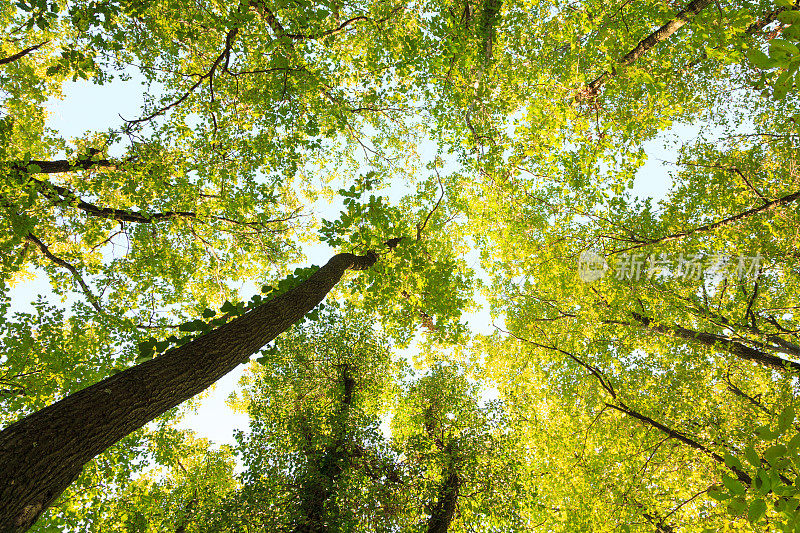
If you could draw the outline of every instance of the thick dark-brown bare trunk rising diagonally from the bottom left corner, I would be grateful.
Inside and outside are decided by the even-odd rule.
[[[129,433],[202,392],[317,306],[377,255],[338,254],[300,286],[196,340],[71,394],[0,432],[0,533],[26,531]]]

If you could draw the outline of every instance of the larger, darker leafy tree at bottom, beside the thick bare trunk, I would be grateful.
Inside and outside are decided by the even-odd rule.
[[[378,429],[396,374],[384,343],[363,314],[331,311],[252,367],[236,402],[252,420],[242,488],[214,527],[353,531],[383,515],[391,530],[402,474]]]

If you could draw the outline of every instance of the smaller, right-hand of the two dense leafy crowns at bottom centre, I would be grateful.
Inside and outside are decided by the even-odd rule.
[[[433,367],[398,398],[392,439],[413,472],[405,489],[412,517],[424,508],[430,524],[426,515],[455,486],[451,531],[478,523],[513,531],[529,523],[538,484],[530,456],[511,432],[503,405],[481,403],[477,386],[452,366]]]

